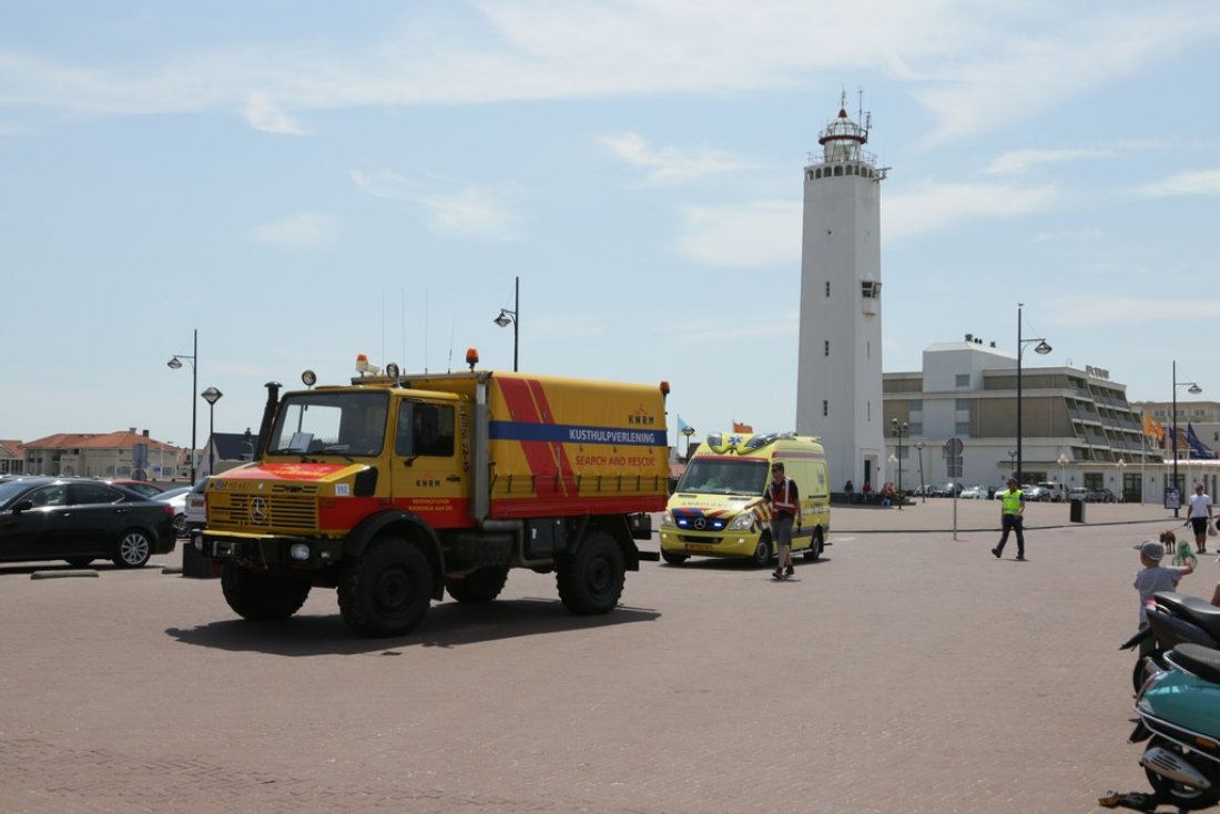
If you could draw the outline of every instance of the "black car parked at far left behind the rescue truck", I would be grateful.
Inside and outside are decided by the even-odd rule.
[[[0,482],[0,560],[111,559],[142,567],[173,550],[173,508],[121,486],[84,478]]]

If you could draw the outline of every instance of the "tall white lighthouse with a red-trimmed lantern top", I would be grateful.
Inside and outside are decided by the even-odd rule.
[[[869,118],[844,106],[805,167],[797,432],[820,436],[833,491],[887,480],[881,399],[881,181]]]

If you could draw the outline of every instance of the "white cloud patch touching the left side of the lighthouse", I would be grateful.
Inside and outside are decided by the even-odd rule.
[[[733,267],[800,262],[798,201],[689,206],[682,218],[678,251],[695,262]]]

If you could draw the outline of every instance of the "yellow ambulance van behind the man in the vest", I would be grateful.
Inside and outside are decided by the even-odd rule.
[[[793,553],[822,555],[831,528],[826,453],[817,438],[795,433],[709,436],[699,444],[661,516],[661,559],[670,565],[694,556],[750,559],[764,566],[775,555],[766,509],[748,508],[762,494],[771,464],[783,461],[800,493],[800,532]]]

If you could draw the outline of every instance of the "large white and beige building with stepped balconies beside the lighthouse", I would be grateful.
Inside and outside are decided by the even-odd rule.
[[[925,483],[949,480],[944,445],[950,438],[963,442],[963,474],[952,480],[1000,487],[1015,469],[1015,354],[966,334],[927,348],[922,365],[883,377],[884,421],[906,425],[900,454],[897,439],[886,439],[886,456],[900,460],[904,489],[919,486],[921,469]],[[1099,367],[1022,366],[1022,481],[1161,502],[1172,461],[1144,436],[1142,410],[1127,402],[1126,389]],[[1220,461],[1180,460],[1177,469],[1183,494],[1198,482],[1215,494]]]

